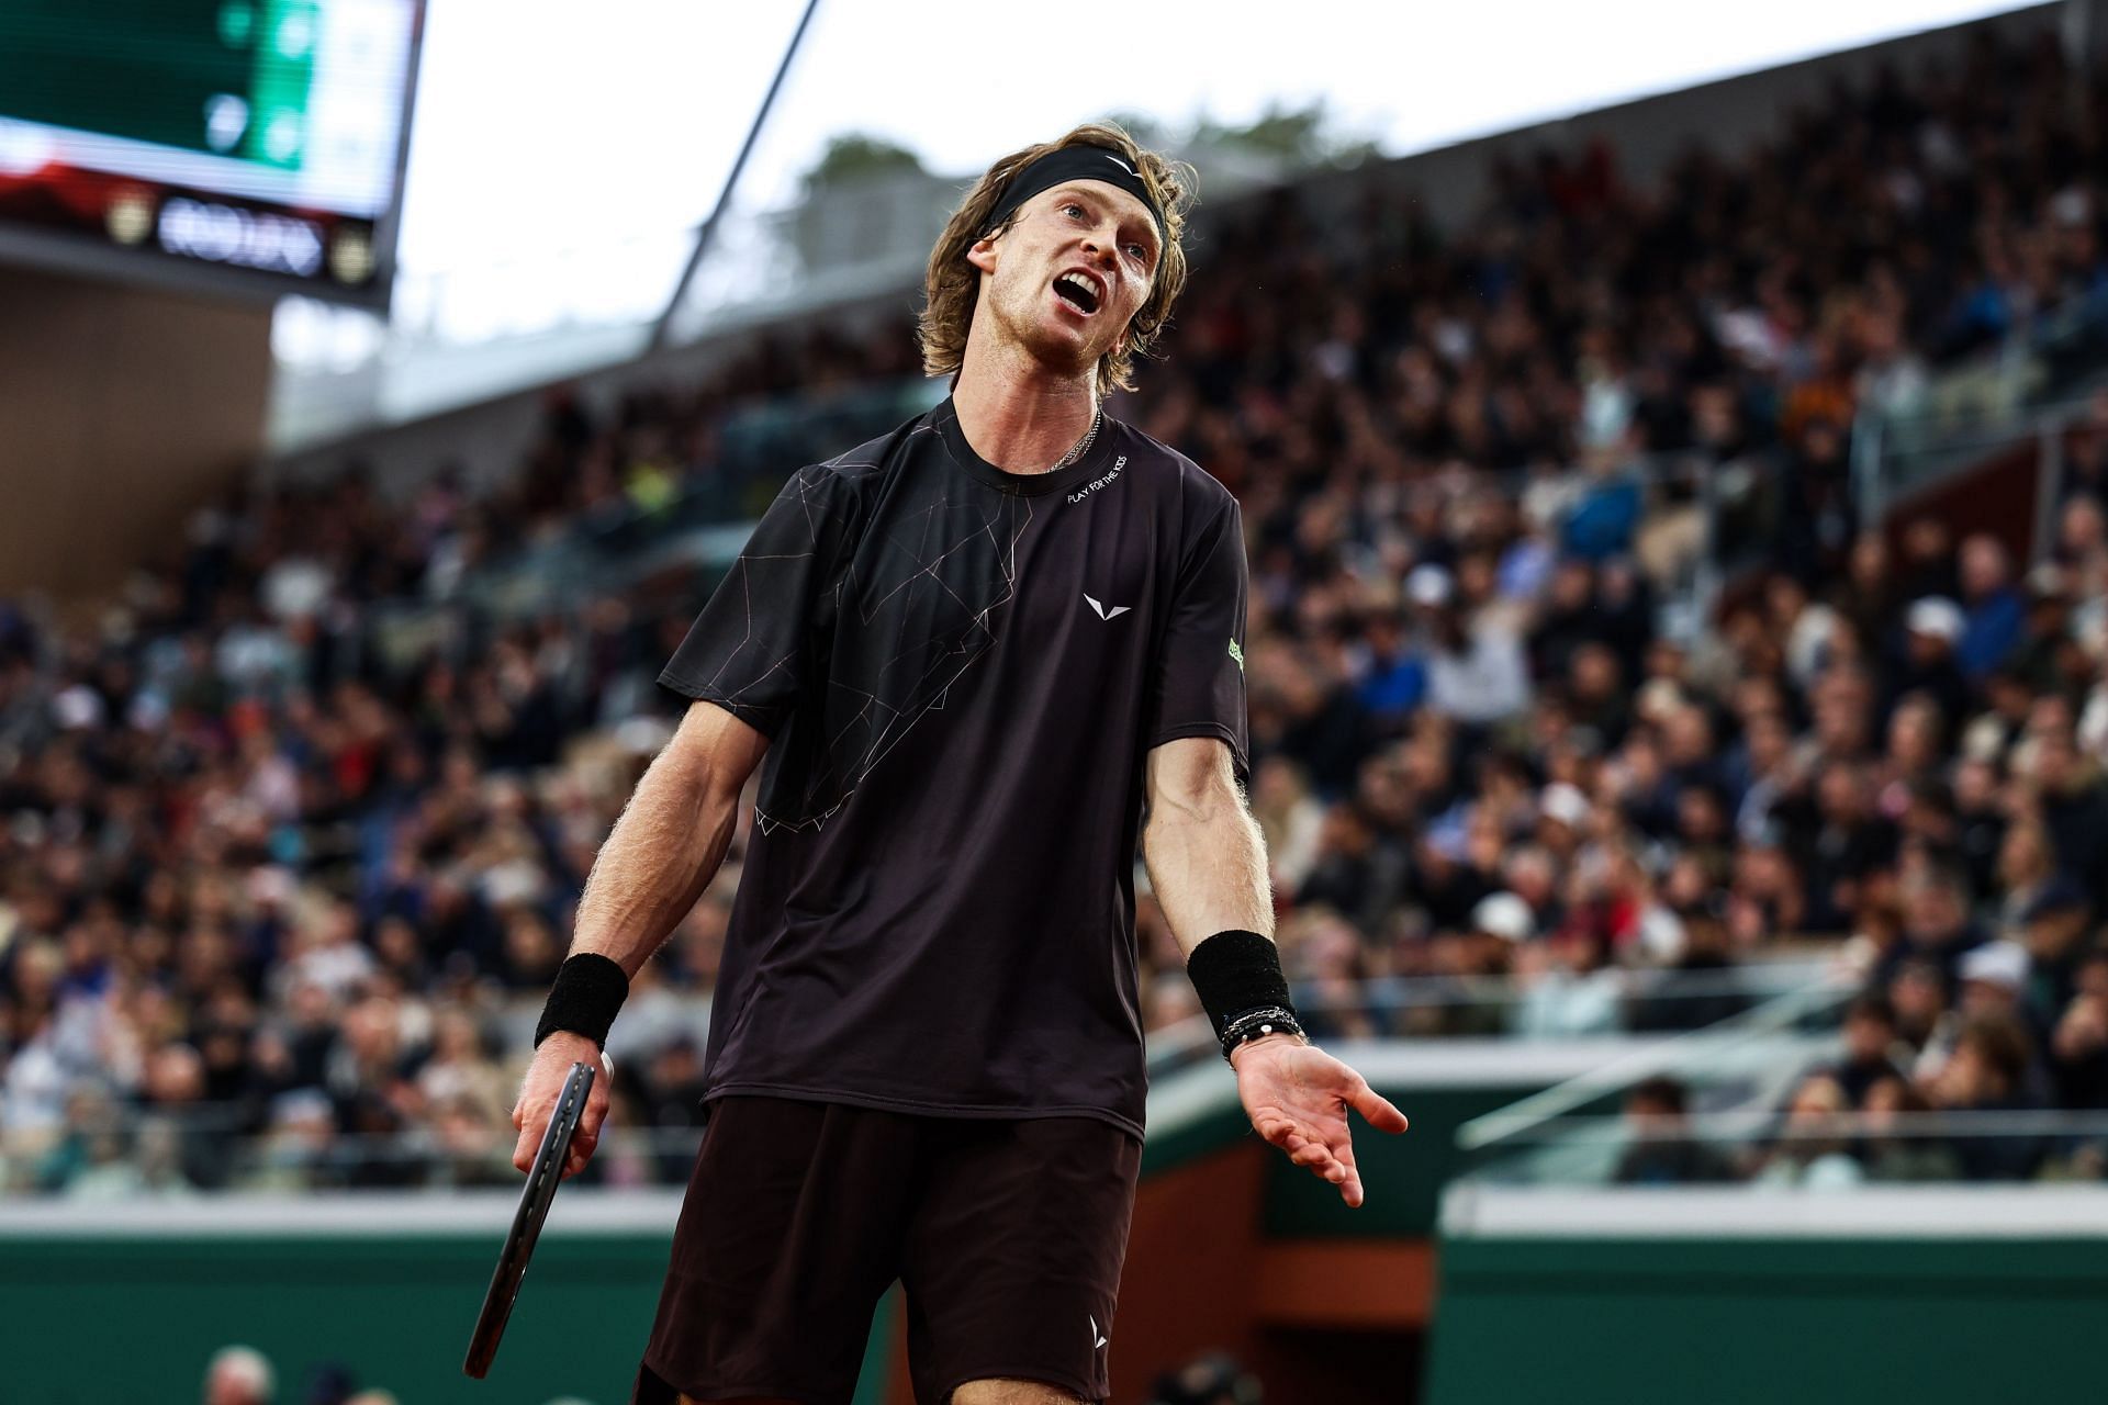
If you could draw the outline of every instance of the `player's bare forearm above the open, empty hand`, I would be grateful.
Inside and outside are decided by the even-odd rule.
[[[1157,794],[1143,828],[1143,864],[1187,956],[1218,931],[1273,935],[1267,840],[1233,784],[1189,798]]]

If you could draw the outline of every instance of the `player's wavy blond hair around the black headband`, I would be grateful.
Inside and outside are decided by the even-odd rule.
[[[951,375],[965,362],[965,335],[974,326],[974,303],[980,299],[980,270],[968,263],[968,251],[982,238],[991,211],[1010,187],[1010,179],[1048,152],[1069,145],[1102,145],[1119,152],[1134,166],[1149,187],[1157,209],[1164,211],[1164,253],[1157,257],[1155,282],[1149,297],[1128,322],[1128,339],[1117,352],[1107,352],[1098,360],[1098,394],[1109,390],[1134,390],[1134,358],[1149,356],[1164,324],[1170,322],[1172,303],[1178,301],[1187,278],[1185,225],[1187,209],[1193,204],[1197,177],[1183,160],[1166,160],[1155,152],[1145,152],[1134,137],[1113,122],[1086,122],[1060,141],[1029,145],[1001,158],[980,177],[965,202],[951,215],[936,249],[930,251],[930,274],[925,278],[928,301],[923,303],[917,341],[921,341],[923,371],[930,375]],[[1012,213],[1010,219],[1014,219]],[[1010,227],[1003,221],[995,234]]]

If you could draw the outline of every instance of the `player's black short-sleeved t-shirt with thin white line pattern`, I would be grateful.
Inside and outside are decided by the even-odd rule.
[[[660,682],[767,733],[708,1095],[1140,1135],[1143,760],[1246,773],[1237,501],[1107,419],[1050,474],[946,400],[801,470]]]

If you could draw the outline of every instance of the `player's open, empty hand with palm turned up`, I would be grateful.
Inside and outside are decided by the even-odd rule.
[[[1237,1097],[1258,1135],[1299,1167],[1339,1186],[1347,1205],[1360,1205],[1362,1175],[1353,1169],[1347,1108],[1393,1135],[1406,1129],[1406,1114],[1368,1087],[1368,1079],[1288,1034],[1237,1045],[1229,1064],[1237,1070]]]

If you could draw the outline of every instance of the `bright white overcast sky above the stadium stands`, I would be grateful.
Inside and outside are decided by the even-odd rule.
[[[1077,120],[1328,99],[1406,154],[2017,8],[1986,0],[820,0],[742,181],[780,204],[828,135],[972,173]],[[799,0],[432,0],[401,259],[474,265],[675,232],[717,198]],[[1292,23],[1284,23],[1284,15]]]

